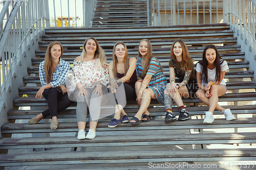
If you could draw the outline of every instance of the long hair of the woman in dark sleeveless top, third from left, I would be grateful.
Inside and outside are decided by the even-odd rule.
[[[129,57],[128,57],[128,52],[127,52],[127,47],[125,45],[125,43],[123,41],[118,41],[114,47],[113,47],[113,69],[114,69],[114,77],[117,78],[117,57],[115,55],[115,51],[116,51],[116,46],[122,44],[124,46],[124,57],[123,57],[123,61],[124,61],[124,75],[126,75],[128,69],[129,69]],[[130,80],[126,81],[129,82]]]

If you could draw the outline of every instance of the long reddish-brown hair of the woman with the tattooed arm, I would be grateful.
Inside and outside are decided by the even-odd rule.
[[[177,39],[173,42],[172,48],[170,50],[170,57],[172,57],[173,60],[177,61],[176,56],[174,54],[174,45],[176,42],[179,42],[182,48],[182,60],[181,60],[180,66],[181,66],[182,72],[185,72],[187,69],[188,60],[190,60],[191,58],[188,54],[187,46],[183,40]]]

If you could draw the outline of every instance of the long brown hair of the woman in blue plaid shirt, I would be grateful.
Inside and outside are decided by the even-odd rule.
[[[60,45],[60,49],[61,49],[61,54],[60,54],[60,57],[62,56],[63,54],[63,47],[61,45],[60,42],[58,41],[52,41],[48,47],[47,47],[47,50],[46,50],[46,55],[45,55],[45,74],[46,74],[46,82],[47,84],[50,83],[50,81],[52,81],[52,55],[51,55],[51,48],[53,45],[55,44],[58,44]]]

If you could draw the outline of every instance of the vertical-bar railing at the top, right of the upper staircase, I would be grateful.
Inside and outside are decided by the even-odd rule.
[[[148,0],[148,26],[223,22],[222,0]],[[153,11],[153,15],[150,15]],[[152,19],[152,22],[149,20]]]

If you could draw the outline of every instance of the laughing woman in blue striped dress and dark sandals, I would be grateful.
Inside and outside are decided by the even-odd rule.
[[[152,45],[148,39],[140,41],[136,72],[138,81],[135,83],[135,92],[140,109],[130,121],[130,124],[134,125],[152,119],[148,116],[150,112],[147,110],[151,99],[157,99],[161,105],[164,105],[163,96],[167,81],[158,59],[152,56]]]

